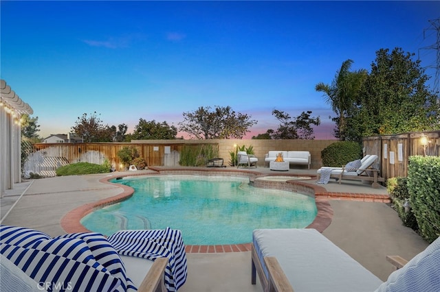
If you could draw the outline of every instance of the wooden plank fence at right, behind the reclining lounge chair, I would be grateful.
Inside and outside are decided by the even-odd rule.
[[[371,136],[362,144],[365,154],[379,156],[383,178],[406,177],[409,156],[440,156],[440,131]]]

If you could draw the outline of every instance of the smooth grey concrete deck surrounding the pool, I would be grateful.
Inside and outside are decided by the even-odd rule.
[[[236,168],[227,167],[225,171],[236,171]],[[267,167],[258,167],[250,171],[280,176],[316,174],[316,169],[289,169],[280,173],[270,171]],[[123,176],[135,173],[148,174],[155,171],[117,174]],[[69,211],[124,191],[120,186],[100,182],[102,178],[113,175],[115,173],[74,175],[16,184],[14,190],[8,190],[1,199],[1,223],[34,228],[51,236],[65,234],[61,219]],[[316,186],[316,179],[308,180],[307,183]],[[362,202],[355,200],[359,197],[347,195],[382,196],[386,195],[386,188],[372,188],[361,182],[338,184],[334,181],[319,187],[325,188],[329,193],[343,194],[340,197],[327,198],[333,209],[333,218],[322,234],[380,279],[386,280],[393,271],[391,264],[385,260],[386,255],[398,254],[409,260],[428,246],[418,234],[402,226],[397,213],[387,204]],[[10,210],[12,206],[14,208]],[[188,279],[179,291],[262,291],[258,281],[256,285],[250,284],[248,251],[188,253],[187,258]]]

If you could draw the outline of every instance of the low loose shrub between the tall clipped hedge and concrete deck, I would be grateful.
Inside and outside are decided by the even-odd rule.
[[[389,178],[386,181],[388,195],[393,199],[393,208],[396,210],[404,226],[418,230],[417,220],[410,205],[407,178]]]

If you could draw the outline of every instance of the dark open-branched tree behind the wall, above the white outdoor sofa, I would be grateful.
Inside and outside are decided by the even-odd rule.
[[[314,128],[311,125],[320,125],[320,117],[310,117],[311,111],[302,112],[294,120],[287,112],[272,110],[272,115],[281,122],[276,131],[267,130],[274,139],[308,139],[313,140]]]

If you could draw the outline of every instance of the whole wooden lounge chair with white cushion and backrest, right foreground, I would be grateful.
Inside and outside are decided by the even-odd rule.
[[[258,271],[264,291],[440,291],[440,238],[382,282],[316,230],[254,230],[253,236],[252,284]]]

